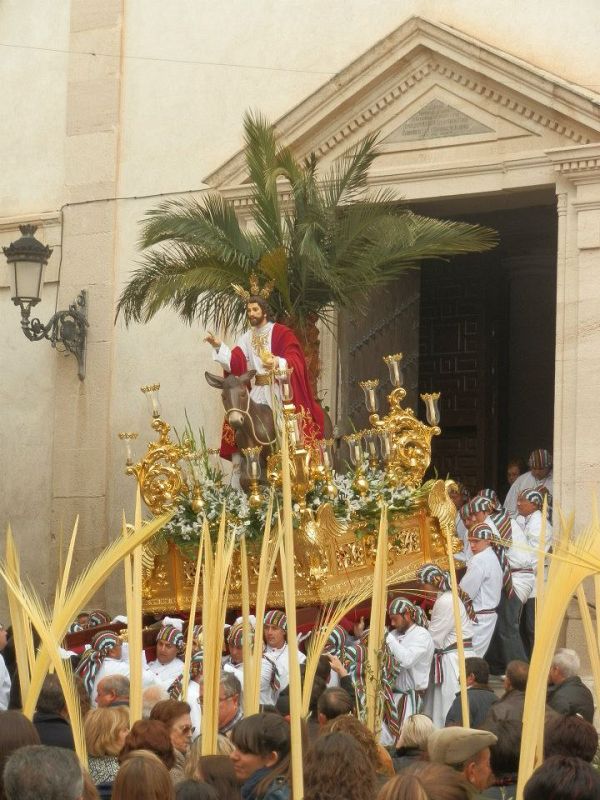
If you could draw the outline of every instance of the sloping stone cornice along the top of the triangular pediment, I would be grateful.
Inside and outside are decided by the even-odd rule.
[[[413,17],[310,95],[276,124],[299,156],[330,152],[431,74],[456,82],[512,114],[575,142],[600,139],[600,96],[444,25]],[[379,87],[379,92],[374,91]],[[340,108],[358,108],[341,120]],[[347,111],[345,112],[347,115]],[[583,126],[586,130],[582,130]],[[348,142],[349,143],[349,142]],[[205,181],[241,184],[240,151]]]

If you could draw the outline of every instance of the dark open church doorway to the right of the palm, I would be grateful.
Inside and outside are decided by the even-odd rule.
[[[423,266],[419,391],[442,393],[437,473],[504,491],[508,460],[552,449],[556,207],[460,219],[495,228],[500,245]]]

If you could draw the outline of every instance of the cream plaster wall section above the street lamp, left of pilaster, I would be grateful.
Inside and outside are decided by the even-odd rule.
[[[51,211],[64,197],[69,3],[0,3],[0,214]]]

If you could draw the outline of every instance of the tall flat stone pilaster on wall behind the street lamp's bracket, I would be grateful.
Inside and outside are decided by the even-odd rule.
[[[65,135],[67,203],[59,306],[86,289],[86,377],[73,358],[57,367],[52,537],[79,515],[73,574],[107,544],[110,422],[122,82],[121,0],[72,0]],[[97,57],[90,54],[99,53]],[[52,584],[52,580],[51,580]],[[101,596],[97,603],[104,602]],[[112,609],[111,609],[112,610]],[[117,609],[115,609],[117,610]]]

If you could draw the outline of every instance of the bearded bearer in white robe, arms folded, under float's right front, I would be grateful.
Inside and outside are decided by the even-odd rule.
[[[397,668],[394,703],[402,726],[407,717],[421,710],[422,698],[429,685],[434,645],[425,627],[425,615],[410,600],[394,598],[389,614],[392,630],[386,634],[386,644]]]

